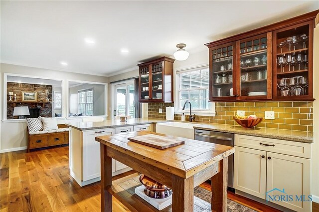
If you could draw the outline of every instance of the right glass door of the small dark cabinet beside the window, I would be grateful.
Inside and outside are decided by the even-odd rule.
[[[163,99],[163,62],[152,64],[152,100]]]

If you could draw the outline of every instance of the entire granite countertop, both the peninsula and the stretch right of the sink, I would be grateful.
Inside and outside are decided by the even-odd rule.
[[[136,118],[128,119],[126,122],[121,122],[120,120],[105,120],[103,122],[76,122],[66,124],[69,127],[75,128],[77,130],[95,130],[102,128],[115,128],[115,127],[125,127],[133,126],[138,124],[157,124],[163,122],[172,122],[180,120],[165,120],[165,119],[154,119],[154,118]],[[248,136],[258,136],[264,138],[274,138],[288,141],[297,141],[303,143],[313,143],[313,133],[295,130],[281,130],[273,128],[263,128],[263,127],[253,127],[251,129],[246,129],[237,125],[227,125],[227,124],[213,124],[204,122],[194,122],[200,124],[194,126],[195,129],[200,130],[210,130],[217,132],[234,133],[240,135]]]

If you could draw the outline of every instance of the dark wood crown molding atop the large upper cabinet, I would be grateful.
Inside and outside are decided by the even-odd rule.
[[[303,15],[299,15],[299,16],[296,16],[296,17],[293,17],[293,18],[290,18],[290,19],[282,20],[282,21],[277,22],[277,23],[273,23],[273,24],[270,24],[270,25],[262,26],[262,27],[257,28],[257,29],[253,29],[253,30],[250,30],[250,31],[246,31],[246,32],[243,32],[243,33],[240,33],[240,34],[236,34],[236,35],[230,36],[230,37],[226,37],[224,39],[219,39],[219,40],[216,40],[216,41],[213,41],[213,42],[210,42],[210,43],[206,43],[205,45],[207,47],[214,47],[214,46],[220,45],[220,44],[225,43],[225,42],[227,42],[227,43],[228,42],[233,42],[233,41],[236,41],[236,40],[245,39],[245,38],[248,38],[248,37],[251,37],[251,36],[255,36],[255,35],[258,35],[258,34],[266,33],[266,32],[269,32],[269,31],[274,31],[274,30],[280,29],[282,27],[291,26],[291,25],[294,25],[294,24],[297,24],[297,23],[301,23],[301,22],[304,22],[304,21],[314,20],[316,18],[316,16],[318,16],[318,13],[319,13],[319,10],[315,10],[315,11],[312,11],[312,12],[309,12],[309,13],[306,13],[306,14],[303,14]]]

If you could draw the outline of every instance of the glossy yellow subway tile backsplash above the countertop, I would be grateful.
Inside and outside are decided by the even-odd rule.
[[[165,107],[173,103],[150,103],[150,118],[165,118]],[[163,108],[163,113],[159,113]],[[216,116],[200,116],[195,113],[196,121],[238,125],[233,121],[237,110],[244,110],[245,115],[265,117],[265,111],[274,111],[275,119],[264,119],[257,127],[299,130],[313,132],[313,102],[217,102]],[[188,115],[186,114],[186,121]],[[180,120],[180,114],[175,119]]]

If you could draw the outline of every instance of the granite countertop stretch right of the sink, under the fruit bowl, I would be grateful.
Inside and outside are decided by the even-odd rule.
[[[313,133],[295,130],[281,130],[273,128],[253,127],[246,129],[237,125],[227,124],[208,124],[194,126],[195,129],[199,130],[210,130],[226,133],[234,133],[248,136],[258,136],[264,138],[274,138],[288,141],[297,141],[303,143],[313,143]]]

